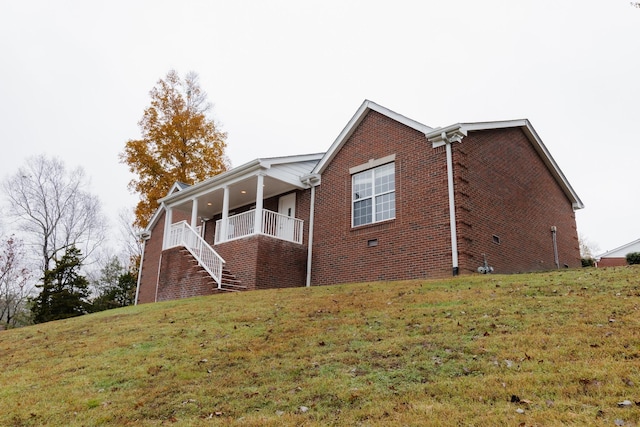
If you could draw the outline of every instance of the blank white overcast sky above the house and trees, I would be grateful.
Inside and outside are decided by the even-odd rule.
[[[234,165],[328,149],[364,99],[429,126],[528,118],[600,251],[640,238],[627,0],[0,1],[0,178],[46,153],[114,219],[148,92],[196,71]],[[6,232],[6,230],[5,230]]]

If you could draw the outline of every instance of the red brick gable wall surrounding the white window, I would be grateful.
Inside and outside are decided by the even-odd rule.
[[[396,155],[396,219],[351,227],[349,168]],[[316,190],[313,285],[451,275],[444,149],[370,112],[322,174]],[[378,240],[368,247],[367,242]]]

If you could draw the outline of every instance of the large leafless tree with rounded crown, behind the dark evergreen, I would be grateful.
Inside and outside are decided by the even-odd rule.
[[[59,159],[35,156],[3,187],[8,214],[14,220],[11,225],[38,253],[43,274],[67,248],[80,249],[86,259],[105,240],[100,201],[88,192],[82,168],[67,171]]]

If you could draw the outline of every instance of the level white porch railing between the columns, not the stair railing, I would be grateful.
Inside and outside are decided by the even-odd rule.
[[[265,234],[276,239],[302,244],[303,220],[263,209],[262,230],[256,233],[255,218],[255,209],[230,216],[227,218],[226,236],[223,236],[222,233],[222,220],[216,221],[215,243],[235,240],[252,234]]]

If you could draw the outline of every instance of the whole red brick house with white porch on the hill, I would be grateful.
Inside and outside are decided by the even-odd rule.
[[[176,184],[137,301],[579,267],[579,197],[528,120],[431,128],[371,101],[326,153]]]

